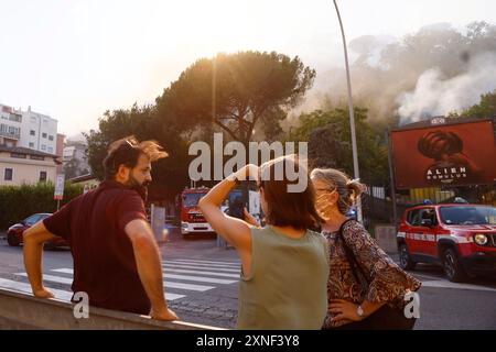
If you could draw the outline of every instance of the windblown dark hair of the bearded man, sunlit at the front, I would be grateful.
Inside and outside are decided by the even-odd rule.
[[[123,138],[111,143],[108,148],[104,160],[105,178],[114,179],[120,165],[136,167],[141,154],[147,155],[151,162],[169,156],[155,141],[139,142],[133,135]]]

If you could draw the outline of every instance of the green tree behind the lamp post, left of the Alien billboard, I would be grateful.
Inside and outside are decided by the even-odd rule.
[[[358,162],[364,182],[384,185],[388,179],[387,147],[366,121],[367,110],[356,108]],[[349,116],[345,109],[316,110],[300,116],[300,127],[289,134],[291,141],[309,142],[310,167],[333,167],[353,175]]]

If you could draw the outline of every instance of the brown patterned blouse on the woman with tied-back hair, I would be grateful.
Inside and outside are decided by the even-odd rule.
[[[407,304],[403,298],[407,292],[416,292],[421,283],[403,272],[377,245],[367,230],[357,221],[348,221],[343,227],[343,239],[356,262],[367,276],[368,288],[362,288],[352,266],[346,260],[342,241],[337,240],[337,232],[323,232],[330,244],[331,271],[327,282],[327,297],[345,299],[354,304],[362,304],[365,299],[371,302],[387,302],[391,307],[402,309]],[[351,321],[333,321],[334,315],[328,311],[324,320],[324,329],[339,327]]]

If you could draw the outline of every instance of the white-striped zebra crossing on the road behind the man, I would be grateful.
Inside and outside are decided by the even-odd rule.
[[[162,268],[165,299],[172,301],[193,293],[205,293],[237,283],[241,265],[237,261],[175,258],[162,261]],[[43,274],[43,282],[55,298],[71,300],[73,274],[72,267],[47,270]],[[25,272],[14,273],[12,278],[0,278],[0,288],[32,293]]]

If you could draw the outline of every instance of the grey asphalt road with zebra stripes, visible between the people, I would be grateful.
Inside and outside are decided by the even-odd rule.
[[[169,230],[161,252],[165,296],[182,320],[234,328],[240,271],[236,252],[219,248],[215,235],[183,238],[176,228]],[[453,284],[432,265],[419,265],[411,274],[422,282],[416,329],[496,329],[496,279]],[[68,251],[45,251],[44,278],[57,297],[71,297]],[[4,240],[0,240],[2,286],[30,292],[22,249],[10,248]]]

